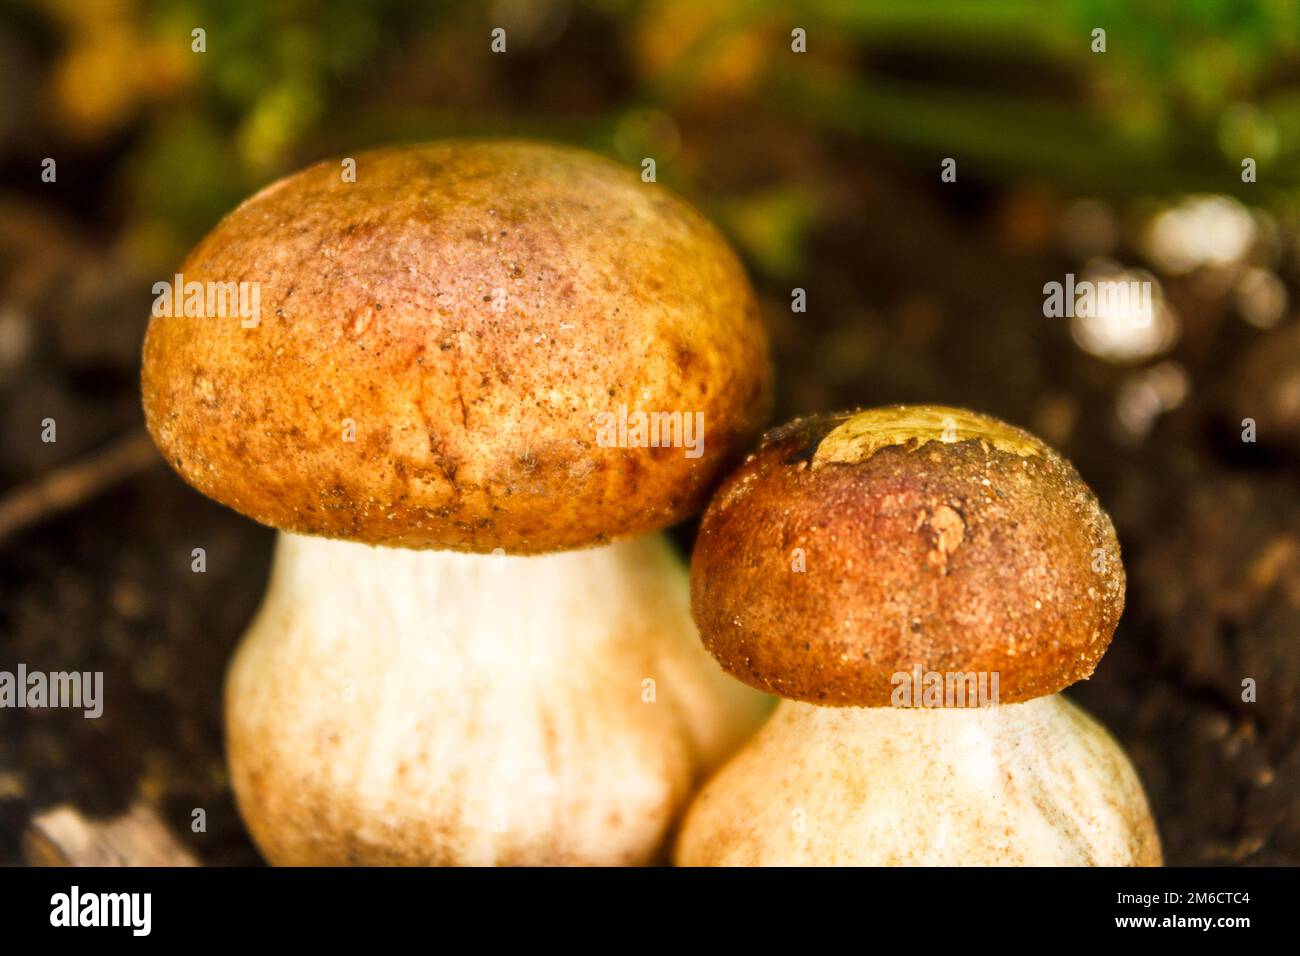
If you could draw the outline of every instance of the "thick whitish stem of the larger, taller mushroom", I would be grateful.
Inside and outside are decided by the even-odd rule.
[[[644,864],[768,698],[660,535],[543,557],[280,536],[226,684],[274,864]]]

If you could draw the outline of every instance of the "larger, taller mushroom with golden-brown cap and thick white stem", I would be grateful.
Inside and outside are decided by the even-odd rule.
[[[768,704],[699,645],[660,533],[766,414],[748,280],[582,151],[339,169],[185,261],[186,289],[257,284],[259,320],[155,316],[144,342],[166,459],[280,529],[226,682],[240,813],[273,864],[653,861]]]

